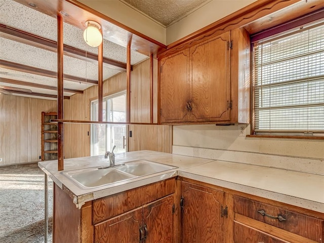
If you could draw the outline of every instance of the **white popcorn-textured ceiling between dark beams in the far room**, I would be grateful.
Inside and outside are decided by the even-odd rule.
[[[57,41],[57,20],[41,12],[35,11],[12,0],[0,0],[0,23],[23,30],[25,32],[45,37],[53,41]],[[0,33],[1,35],[1,33]],[[98,48],[88,46],[83,39],[83,30],[76,28],[70,24],[63,23],[63,42],[64,44],[85,50],[90,53],[97,54]],[[12,41],[5,37],[0,37],[0,59],[5,61],[23,64],[36,68],[42,68],[50,71],[57,71],[57,53],[36,48],[20,42]],[[104,39],[103,56],[115,61],[127,62],[127,50],[125,47],[119,46]],[[131,64],[134,65],[148,58],[134,50],[131,51]],[[64,74],[77,77],[98,80],[98,64],[93,60],[85,58],[73,58],[64,56]],[[107,79],[116,73],[117,69],[103,66],[103,79]],[[6,68],[0,68],[0,86],[11,86],[17,88],[26,88],[32,92],[57,94],[56,91],[48,89],[39,89],[33,87],[25,87],[11,85],[1,82],[1,78],[10,78],[14,80],[36,83],[41,85],[50,85],[57,87],[57,79],[45,77],[36,74],[25,73],[21,71],[13,71]],[[85,90],[92,84],[80,84],[64,80],[64,88]],[[64,92],[64,95],[70,96],[73,93]],[[33,96],[34,97],[34,96]],[[35,97],[34,97],[35,98]],[[39,97],[43,98],[43,97]]]

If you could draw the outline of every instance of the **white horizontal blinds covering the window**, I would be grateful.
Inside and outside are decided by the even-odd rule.
[[[255,134],[324,133],[324,25],[254,44]]]

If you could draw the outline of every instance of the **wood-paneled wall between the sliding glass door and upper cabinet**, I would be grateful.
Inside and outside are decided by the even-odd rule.
[[[150,122],[150,61],[133,67],[131,76],[131,122]],[[153,61],[153,122],[157,122],[157,60]],[[172,152],[172,126],[130,125],[129,151]]]

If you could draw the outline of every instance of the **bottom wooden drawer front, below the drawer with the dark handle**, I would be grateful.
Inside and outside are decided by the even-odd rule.
[[[237,222],[234,222],[234,232],[235,243],[289,243],[289,241]]]

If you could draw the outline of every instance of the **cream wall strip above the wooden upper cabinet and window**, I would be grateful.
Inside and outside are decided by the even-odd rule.
[[[167,28],[167,45],[242,9],[256,0],[213,0]]]

